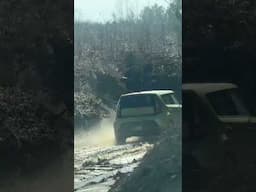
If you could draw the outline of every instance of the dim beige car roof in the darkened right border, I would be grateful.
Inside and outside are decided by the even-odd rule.
[[[207,94],[234,88],[237,88],[237,86],[233,83],[185,83],[182,85],[183,91],[195,91],[199,94]]]

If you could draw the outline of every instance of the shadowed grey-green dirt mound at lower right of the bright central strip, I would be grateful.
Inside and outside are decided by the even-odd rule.
[[[181,191],[181,139],[177,133],[167,135],[135,172],[120,179],[111,192]]]

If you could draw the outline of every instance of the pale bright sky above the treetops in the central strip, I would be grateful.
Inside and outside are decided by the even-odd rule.
[[[167,6],[165,0],[74,0],[75,19],[104,22],[112,18],[113,13],[120,13],[128,5],[134,12],[152,4]]]

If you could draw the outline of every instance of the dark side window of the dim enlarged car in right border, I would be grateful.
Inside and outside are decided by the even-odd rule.
[[[209,93],[207,98],[218,115],[249,115],[235,89]]]

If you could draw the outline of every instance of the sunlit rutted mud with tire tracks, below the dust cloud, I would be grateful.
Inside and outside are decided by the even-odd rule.
[[[115,181],[131,173],[152,148],[152,144],[138,143],[76,149],[74,191],[109,191]]]

